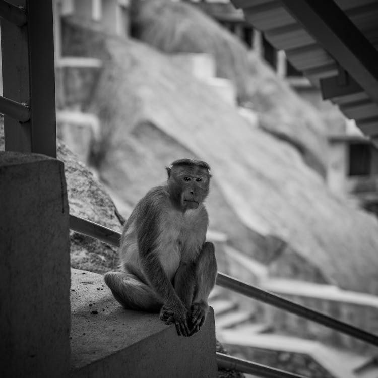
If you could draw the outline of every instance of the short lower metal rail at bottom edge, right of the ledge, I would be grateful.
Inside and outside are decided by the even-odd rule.
[[[224,369],[237,370],[246,374],[256,374],[263,378],[306,378],[303,375],[289,373],[288,371],[275,369],[219,352],[217,352],[217,363],[218,367],[223,367]]]

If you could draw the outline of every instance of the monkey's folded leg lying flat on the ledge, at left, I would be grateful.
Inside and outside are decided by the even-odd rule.
[[[163,305],[153,289],[134,274],[109,272],[104,281],[114,298],[126,309],[159,312]]]

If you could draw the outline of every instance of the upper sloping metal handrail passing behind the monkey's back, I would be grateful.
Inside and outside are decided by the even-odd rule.
[[[113,231],[110,228],[101,226],[84,218],[79,218],[70,215],[70,228],[73,231],[99,239],[108,244],[119,246],[119,240],[121,236],[119,232]],[[274,307],[281,308],[299,317],[306,318],[313,322],[322,324],[323,326],[337,330],[346,335],[353,336],[356,339],[362,340],[366,343],[378,346],[377,335],[364,331],[360,328],[354,327],[350,324],[341,322],[322,312],[292,302],[291,300],[285,299],[267,290],[263,290],[256,286],[249,285],[245,282],[232,278],[224,273],[218,272],[216,284],[230,289],[232,291],[235,291],[237,293],[243,294],[249,298],[263,301]]]

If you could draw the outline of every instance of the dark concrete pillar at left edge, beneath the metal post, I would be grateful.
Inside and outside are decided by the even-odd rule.
[[[67,377],[70,242],[62,162],[0,151],[0,259],[0,375]]]

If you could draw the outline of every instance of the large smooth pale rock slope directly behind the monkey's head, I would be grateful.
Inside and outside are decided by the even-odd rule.
[[[378,292],[377,220],[333,196],[296,148],[145,44],[72,23],[66,38],[68,53],[104,62],[89,108],[102,132],[93,161],[118,198],[133,206],[165,165],[201,158],[213,173],[210,226],[234,246],[263,262],[297,255],[326,282]]]

